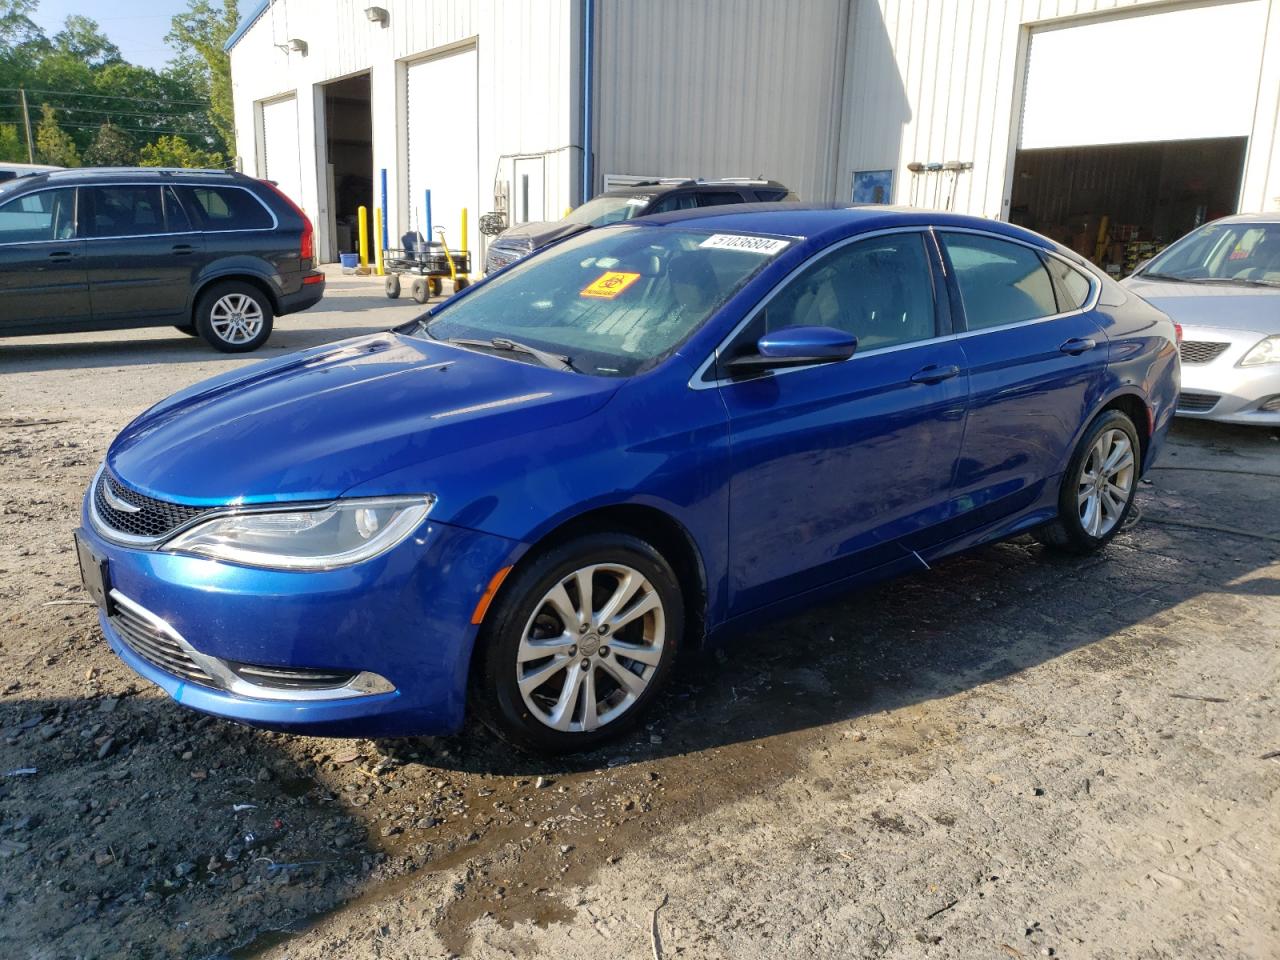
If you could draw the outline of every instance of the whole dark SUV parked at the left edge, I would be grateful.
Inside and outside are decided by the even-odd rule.
[[[0,184],[0,335],[177,326],[243,353],[324,296],[307,215],[221,170],[79,169]]]

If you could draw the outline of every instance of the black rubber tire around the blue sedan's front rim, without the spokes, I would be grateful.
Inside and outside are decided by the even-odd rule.
[[[622,712],[595,730],[561,731],[553,730],[548,722],[539,719],[525,701],[517,684],[520,667],[520,648],[529,626],[538,627],[539,621],[550,617],[549,634],[563,630],[573,635],[567,623],[557,623],[552,608],[544,604],[547,594],[576,571],[593,564],[618,564],[639,572],[649,584],[660,602],[660,612],[632,620],[621,627],[617,636],[626,637],[617,643],[636,643],[645,630],[657,635],[657,626],[664,626],[660,653],[657,663],[649,667],[627,658],[618,659],[618,652],[608,648],[609,635],[596,635],[595,627],[589,627],[582,636],[582,648],[576,645],[567,652],[566,667],[548,675],[547,686],[531,692],[532,699],[554,699],[556,692],[563,692],[570,678],[581,673],[580,664],[590,663],[594,691],[603,698],[599,701],[614,705],[626,700],[622,685],[613,680],[617,671],[631,669],[632,675],[646,680],[641,692],[635,695]],[[613,572],[596,576],[594,588],[599,595],[608,596],[608,585],[614,582]],[[600,589],[605,586],[605,590]],[[637,594],[639,596],[639,594]],[[575,599],[575,603],[577,600]],[[634,600],[632,600],[634,603]],[[594,604],[593,604],[594,607]],[[600,604],[603,608],[603,604]],[[630,608],[630,603],[625,604]],[[596,609],[596,613],[600,611]],[[535,620],[535,616],[538,620]],[[590,534],[553,547],[521,563],[503,584],[493,605],[489,608],[480,636],[476,640],[476,660],[471,671],[471,704],[480,719],[507,742],[522,750],[538,754],[566,754],[590,750],[607,740],[622,736],[639,723],[652,707],[663,684],[673,669],[677,649],[684,639],[685,617],[684,598],[680,584],[671,564],[652,545],[627,534]],[[650,637],[652,639],[652,637]],[[589,644],[591,645],[589,649]],[[595,644],[600,644],[599,648]],[[581,658],[581,659],[580,659]],[[550,658],[548,658],[549,663]],[[526,660],[529,663],[529,660]],[[540,664],[539,660],[532,660]],[[539,669],[534,666],[530,671]],[[636,671],[640,671],[639,673]],[[558,684],[558,686],[557,686]],[[540,692],[541,691],[541,692]],[[554,710],[552,710],[554,712]],[[608,716],[608,709],[599,714]],[[575,692],[570,709],[570,721],[581,717],[585,721],[585,696]],[[575,724],[585,727],[582,721]]]

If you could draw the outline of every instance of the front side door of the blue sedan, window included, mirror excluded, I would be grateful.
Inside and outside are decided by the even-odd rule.
[[[732,614],[906,559],[948,513],[968,376],[932,238],[893,232],[819,256],[748,320],[724,356],[762,334],[836,326],[836,364],[745,380],[719,374],[728,408]],[[925,535],[927,536],[927,535]]]

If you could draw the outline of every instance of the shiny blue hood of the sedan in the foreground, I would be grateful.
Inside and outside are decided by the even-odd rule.
[[[178,503],[329,499],[588,416],[620,384],[385,333],[196,384],[129,424],[106,462],[128,486]]]

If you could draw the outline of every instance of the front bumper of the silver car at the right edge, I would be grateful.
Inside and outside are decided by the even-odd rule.
[[[1178,416],[1280,426],[1280,364],[1236,366],[1261,339],[1258,333],[1185,326],[1184,343],[1229,346],[1207,364],[1183,361]]]

